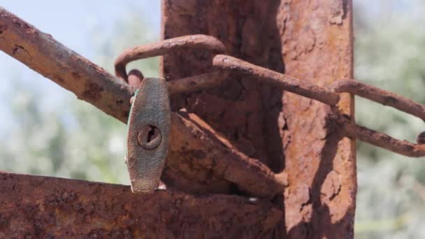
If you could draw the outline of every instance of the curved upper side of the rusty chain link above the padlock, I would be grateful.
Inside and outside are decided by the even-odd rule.
[[[159,55],[170,54],[182,49],[201,49],[210,50],[215,53],[225,53],[226,47],[217,40],[217,38],[206,35],[189,35],[150,43],[138,45],[134,48],[124,50],[115,61],[115,75],[127,82],[127,73],[125,66],[130,61],[145,59],[148,57],[157,57]]]

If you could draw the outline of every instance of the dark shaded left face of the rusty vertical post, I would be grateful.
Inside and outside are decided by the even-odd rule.
[[[215,36],[227,54],[282,72],[280,36],[275,22],[278,1],[163,1],[163,37]],[[180,50],[163,57],[167,80],[214,71],[211,52]],[[278,122],[282,91],[235,74],[220,87],[171,97],[171,108],[187,108],[231,140],[240,152],[273,171],[282,169]],[[266,137],[265,137],[266,136]]]

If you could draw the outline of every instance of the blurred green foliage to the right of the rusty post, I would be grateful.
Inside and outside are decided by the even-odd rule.
[[[425,2],[354,1],[355,78],[425,103]],[[424,122],[356,99],[359,124],[415,142]],[[425,238],[425,161],[358,141],[356,238]]]

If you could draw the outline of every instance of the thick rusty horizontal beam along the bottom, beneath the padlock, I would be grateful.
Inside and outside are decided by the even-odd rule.
[[[0,238],[271,238],[282,217],[240,196],[0,173]]]

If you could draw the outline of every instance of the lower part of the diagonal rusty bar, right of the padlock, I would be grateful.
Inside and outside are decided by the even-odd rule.
[[[275,174],[257,159],[247,157],[196,115],[180,112],[172,121],[168,158],[173,160],[166,161],[162,177],[168,186],[194,193],[272,198],[287,185],[285,173]],[[178,129],[182,134],[173,132]]]

